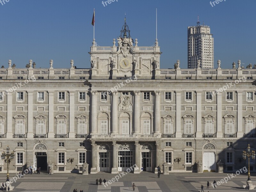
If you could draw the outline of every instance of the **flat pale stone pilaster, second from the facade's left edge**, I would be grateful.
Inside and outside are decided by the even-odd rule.
[[[27,133],[27,138],[33,138],[33,91],[28,91],[28,133]]]

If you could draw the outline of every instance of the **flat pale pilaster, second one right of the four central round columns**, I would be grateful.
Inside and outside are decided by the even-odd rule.
[[[196,91],[196,138],[202,137],[202,92]]]

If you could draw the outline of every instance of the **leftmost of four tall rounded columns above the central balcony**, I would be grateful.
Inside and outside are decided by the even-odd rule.
[[[97,134],[98,133],[98,127],[97,127],[97,91],[91,91],[91,134]]]

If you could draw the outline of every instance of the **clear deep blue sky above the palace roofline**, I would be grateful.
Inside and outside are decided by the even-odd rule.
[[[3,0],[2,0],[3,1]],[[118,0],[105,7],[100,0],[9,0],[0,4],[0,66],[8,60],[16,68],[28,61],[36,68],[89,68],[92,45],[92,14],[95,8],[95,38],[100,46],[112,46],[120,35],[126,12],[127,24],[138,46],[161,46],[160,68],[173,68],[176,60],[187,68],[187,27],[209,25],[214,37],[214,66],[232,68],[241,60],[246,67],[256,64],[255,0],[226,0],[214,7],[210,0]]]

